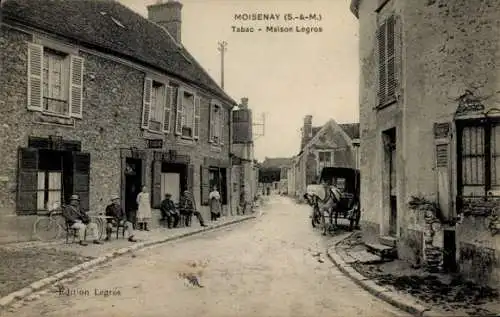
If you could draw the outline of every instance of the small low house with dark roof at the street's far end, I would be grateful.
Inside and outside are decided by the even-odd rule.
[[[288,192],[288,170],[291,165],[291,158],[266,157],[259,168],[259,183],[261,187],[269,187],[273,192],[286,194]]]

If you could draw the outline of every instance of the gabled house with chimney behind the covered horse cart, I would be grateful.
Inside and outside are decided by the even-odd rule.
[[[304,118],[301,150],[289,173],[291,195],[301,196],[306,186],[318,181],[324,167],[359,168],[359,123],[338,124],[329,120],[312,126],[312,116]]]

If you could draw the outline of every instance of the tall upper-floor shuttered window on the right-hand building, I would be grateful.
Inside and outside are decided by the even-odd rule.
[[[379,106],[396,100],[399,69],[399,22],[390,16],[377,30]]]

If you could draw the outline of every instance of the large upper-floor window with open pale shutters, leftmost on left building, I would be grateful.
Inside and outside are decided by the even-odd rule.
[[[38,44],[28,45],[28,109],[82,117],[83,59]]]

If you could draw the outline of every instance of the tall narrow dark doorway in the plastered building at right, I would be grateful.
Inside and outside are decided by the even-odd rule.
[[[386,177],[386,201],[389,202],[389,230],[392,237],[397,236],[398,206],[397,206],[397,169],[396,169],[396,129],[392,128],[383,132],[384,140],[384,165],[388,174]]]

